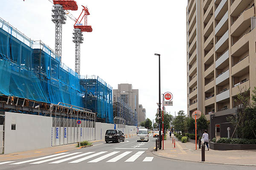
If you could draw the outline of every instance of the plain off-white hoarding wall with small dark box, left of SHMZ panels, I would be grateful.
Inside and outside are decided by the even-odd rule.
[[[11,130],[12,124],[16,130]],[[51,117],[6,112],[4,153],[51,147],[51,127]]]

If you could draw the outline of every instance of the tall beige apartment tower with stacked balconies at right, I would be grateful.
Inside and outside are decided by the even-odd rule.
[[[233,113],[256,86],[256,0],[188,0],[187,111]],[[239,88],[238,88],[239,87]]]

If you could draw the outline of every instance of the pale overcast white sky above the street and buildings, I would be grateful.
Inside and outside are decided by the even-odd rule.
[[[1,0],[0,17],[32,40],[54,49],[55,24],[49,0]],[[161,94],[173,94],[172,115],[187,113],[186,5],[187,0],[76,0],[90,12],[81,44],[81,75],[97,75],[117,89],[129,83],[139,89],[146,117],[155,118],[159,101],[158,57],[161,54]],[[75,70],[73,20],[62,29],[62,62]]]

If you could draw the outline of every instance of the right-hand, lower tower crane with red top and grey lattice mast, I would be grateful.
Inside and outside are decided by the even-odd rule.
[[[91,26],[87,26],[87,15],[90,15],[88,8],[83,7],[81,14],[79,15],[76,23],[74,24],[74,31],[73,31],[73,42],[75,43],[75,71],[76,73],[80,74],[80,44],[83,43],[84,38],[82,32],[91,32],[93,31]],[[83,14],[84,13],[84,14]],[[83,15],[82,15],[83,14]],[[82,17],[81,17],[82,16]],[[79,18],[81,20],[79,21]],[[84,25],[81,21],[84,19]]]

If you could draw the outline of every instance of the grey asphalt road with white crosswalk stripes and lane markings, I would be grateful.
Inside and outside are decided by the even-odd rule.
[[[99,143],[92,147],[30,159],[0,162],[0,170],[255,170],[256,167],[177,161],[154,156],[155,139]]]

